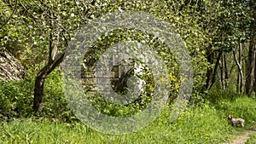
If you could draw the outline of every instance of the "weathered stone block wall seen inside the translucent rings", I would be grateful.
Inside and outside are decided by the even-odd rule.
[[[113,53],[108,56],[108,62],[96,63],[89,67],[89,72],[83,72],[84,89],[89,93],[103,92],[108,93],[111,91],[110,84],[121,84],[118,87],[125,86],[125,75],[127,72],[131,72],[133,65],[129,62],[130,56],[123,53]],[[128,60],[124,62],[123,60]],[[126,83],[125,83],[126,84]]]

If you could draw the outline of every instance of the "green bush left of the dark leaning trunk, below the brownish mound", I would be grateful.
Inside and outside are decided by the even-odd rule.
[[[0,82],[0,111],[3,115],[27,116],[32,112],[33,78],[22,81]]]

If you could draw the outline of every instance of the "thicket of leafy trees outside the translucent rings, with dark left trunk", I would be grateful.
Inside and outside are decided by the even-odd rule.
[[[15,55],[26,66],[27,75],[37,73],[33,109],[41,111],[44,81],[61,64],[79,28],[109,12],[144,11],[170,22],[185,41],[195,72],[192,100],[200,99],[212,86],[252,97],[256,91],[255,4],[255,0],[1,0],[0,50]],[[169,55],[165,49],[161,52]],[[172,55],[167,58],[175,62]],[[170,75],[178,85],[178,73]]]

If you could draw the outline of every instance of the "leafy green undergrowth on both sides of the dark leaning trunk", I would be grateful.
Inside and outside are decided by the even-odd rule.
[[[24,80],[0,82],[0,118],[31,117],[35,77],[27,75]],[[40,116],[68,121],[73,113],[62,91],[61,72],[55,70],[44,85],[44,110]]]

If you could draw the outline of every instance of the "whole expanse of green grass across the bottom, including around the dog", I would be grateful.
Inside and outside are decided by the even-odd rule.
[[[238,98],[232,102],[204,104],[188,107],[175,121],[170,121],[170,108],[166,108],[154,123],[143,130],[126,135],[107,135],[84,124],[51,122],[47,119],[17,119],[3,122],[0,143],[223,143],[255,128],[256,101]],[[254,109],[253,109],[254,108]],[[227,114],[246,119],[245,128],[232,127]],[[254,125],[254,126],[253,126]],[[255,135],[252,141],[255,141]]]

